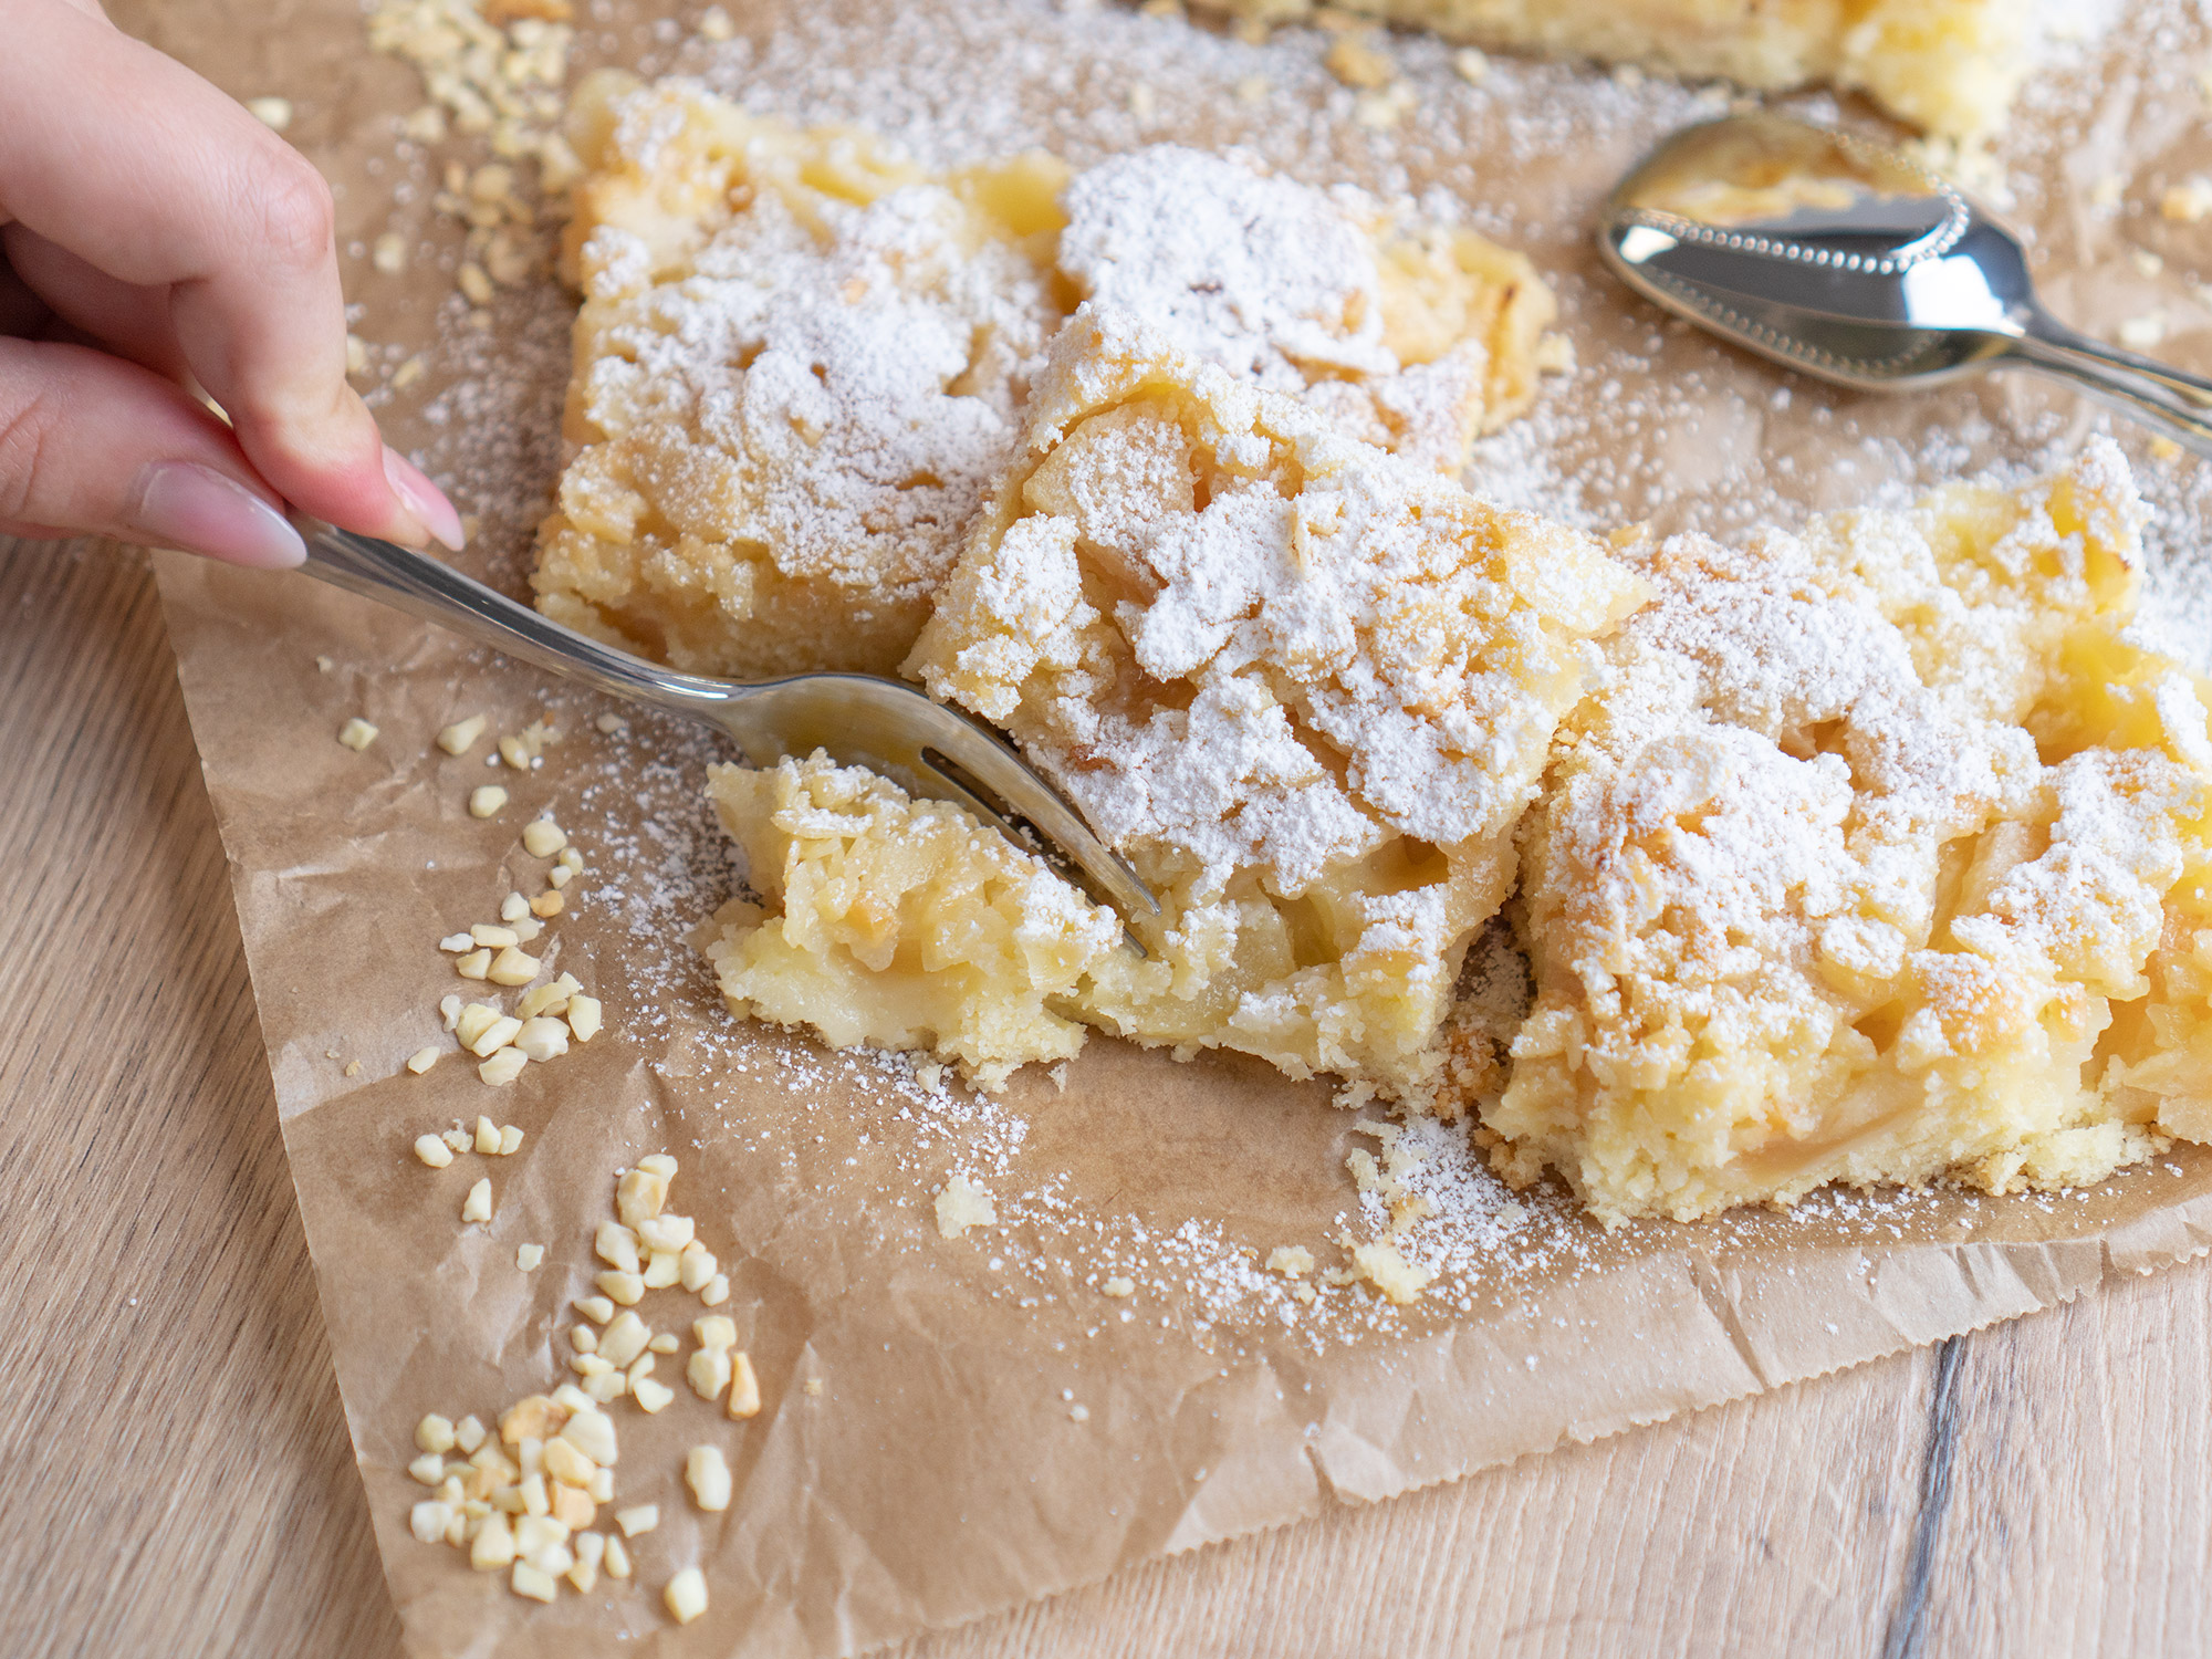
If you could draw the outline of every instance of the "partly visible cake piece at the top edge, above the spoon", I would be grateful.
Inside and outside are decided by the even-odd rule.
[[[1316,11],[1316,0],[1201,4],[1263,22]],[[2004,122],[2062,18],[2057,0],[1343,0],[1336,9],[1480,46],[1723,75],[1756,91],[1827,82],[1951,139]]]

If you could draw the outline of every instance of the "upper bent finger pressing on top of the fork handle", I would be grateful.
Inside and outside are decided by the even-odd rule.
[[[166,290],[190,374],[281,495],[347,529],[458,544],[451,504],[392,465],[345,383],[321,175],[181,64],[66,0],[0,0],[0,219],[117,285]]]

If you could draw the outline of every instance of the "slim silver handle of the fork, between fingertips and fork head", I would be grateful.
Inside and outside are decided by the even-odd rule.
[[[737,688],[723,681],[679,675],[675,668],[615,650],[526,604],[515,604],[482,582],[471,582],[440,560],[319,520],[299,518],[294,526],[307,542],[307,564],[301,566],[307,575],[436,622],[504,657],[518,657],[608,697],[688,719],[719,717],[734,701]]]

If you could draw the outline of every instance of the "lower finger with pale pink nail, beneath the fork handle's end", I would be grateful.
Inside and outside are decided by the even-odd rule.
[[[0,338],[0,535],[80,531],[261,568],[307,557],[184,387],[82,345]]]

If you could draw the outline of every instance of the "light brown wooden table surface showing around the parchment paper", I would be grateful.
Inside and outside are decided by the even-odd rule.
[[[0,540],[0,1652],[392,1655],[195,761],[144,564]],[[905,1652],[2203,1652],[2208,1354],[2181,1267]]]

